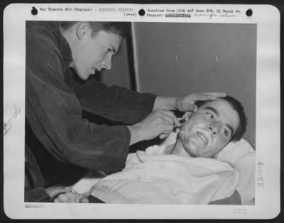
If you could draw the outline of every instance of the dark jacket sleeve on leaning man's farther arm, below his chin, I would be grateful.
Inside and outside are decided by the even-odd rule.
[[[153,111],[155,102],[154,94],[108,87],[94,79],[87,83],[73,82],[73,89],[85,111],[124,124],[142,121]]]

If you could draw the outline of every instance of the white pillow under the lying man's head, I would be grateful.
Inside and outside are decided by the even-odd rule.
[[[172,132],[161,145],[172,145],[177,135],[178,131]],[[251,200],[255,196],[256,153],[250,143],[244,138],[235,143],[228,143],[215,158],[234,163],[239,168],[240,180],[237,190],[241,196],[241,204],[252,205]]]

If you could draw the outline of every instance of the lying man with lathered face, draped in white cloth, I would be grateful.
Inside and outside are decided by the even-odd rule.
[[[229,204],[226,198],[231,197],[235,205],[240,205],[237,168],[214,156],[244,135],[244,108],[229,96],[197,102],[197,106],[197,112],[185,114],[186,121],[174,145],[130,153],[121,172],[102,178],[84,195],[66,192],[54,201],[218,204],[223,200],[222,204]]]

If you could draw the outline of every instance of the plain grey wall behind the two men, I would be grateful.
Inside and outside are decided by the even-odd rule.
[[[133,34],[138,91],[226,92],[243,104],[249,120],[244,138],[255,147],[256,24],[133,23]],[[130,88],[126,53],[124,43],[104,82]]]

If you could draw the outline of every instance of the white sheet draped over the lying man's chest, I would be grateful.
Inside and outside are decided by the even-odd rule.
[[[208,204],[236,190],[239,172],[234,166],[211,158],[164,155],[164,150],[151,146],[129,154],[126,168],[94,182],[90,193],[107,203]],[[73,189],[78,187],[80,182]]]

